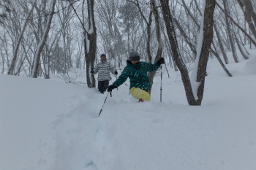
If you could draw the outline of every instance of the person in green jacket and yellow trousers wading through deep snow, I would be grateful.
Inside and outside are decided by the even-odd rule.
[[[160,58],[154,64],[140,61],[140,55],[132,49],[129,53],[127,66],[118,79],[113,82],[113,85],[108,86],[108,92],[118,88],[129,77],[129,92],[131,95],[139,99],[139,101],[149,101],[150,94],[148,91],[150,89],[150,82],[148,81],[148,72],[157,71],[162,63],[165,63],[164,58]]]

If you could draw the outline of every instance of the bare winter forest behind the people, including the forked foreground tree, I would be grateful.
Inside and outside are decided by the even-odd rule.
[[[101,53],[121,70],[133,48],[142,61],[165,58],[181,72],[188,103],[200,105],[208,58],[232,77],[225,65],[248,59],[245,45],[256,47],[255,0],[0,1],[1,74],[49,79],[86,69],[91,88]]]

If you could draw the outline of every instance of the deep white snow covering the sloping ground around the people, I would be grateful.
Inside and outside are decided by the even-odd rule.
[[[255,170],[256,55],[226,66],[208,61],[200,107],[169,69],[162,103],[158,76],[151,102],[121,85],[100,117],[96,88],[0,74],[0,170]]]

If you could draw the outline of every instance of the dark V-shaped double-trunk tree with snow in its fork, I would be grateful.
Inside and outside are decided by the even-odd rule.
[[[173,26],[173,16],[170,14],[170,8],[167,0],[160,0],[163,18],[167,30],[168,39],[173,52],[173,58],[176,61],[178,69],[181,72],[181,79],[189,105],[200,105],[203,100],[204,82],[206,77],[206,66],[208,62],[209,49],[213,39],[213,23],[215,0],[204,1],[203,19],[200,26],[200,38],[197,42],[197,61],[194,67],[194,77],[189,78],[187,67],[181,60],[178,52],[178,43]]]

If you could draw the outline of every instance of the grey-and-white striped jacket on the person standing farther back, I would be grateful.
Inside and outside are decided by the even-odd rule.
[[[97,66],[94,67],[94,74],[98,74],[98,81],[105,81],[105,80],[111,80],[110,72],[112,74],[115,74],[115,67],[107,62],[106,60],[100,61],[100,63],[97,64]]]

